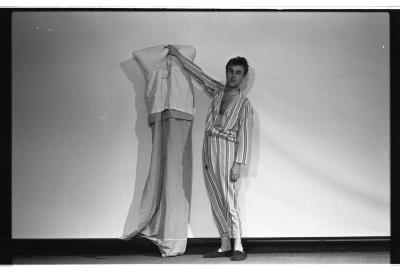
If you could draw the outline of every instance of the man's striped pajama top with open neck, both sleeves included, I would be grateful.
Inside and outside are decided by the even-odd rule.
[[[212,96],[206,117],[206,135],[236,143],[235,162],[246,164],[253,117],[250,101],[240,92],[229,104],[224,114],[219,114],[225,86],[206,75],[201,68],[188,59],[183,61],[183,67]]]

